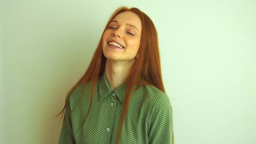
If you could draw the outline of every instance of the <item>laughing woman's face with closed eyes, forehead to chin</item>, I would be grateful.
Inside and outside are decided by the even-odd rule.
[[[141,40],[140,18],[130,11],[119,13],[109,24],[102,40],[102,50],[107,59],[135,59]]]

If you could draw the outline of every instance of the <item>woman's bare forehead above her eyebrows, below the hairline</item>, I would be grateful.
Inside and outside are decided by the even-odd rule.
[[[136,13],[131,11],[119,13],[113,20],[117,20],[120,24],[128,23],[134,25],[138,28],[138,30],[141,30],[141,19]]]

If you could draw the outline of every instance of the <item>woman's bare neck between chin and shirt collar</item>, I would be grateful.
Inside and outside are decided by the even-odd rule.
[[[106,60],[105,74],[113,90],[125,82],[135,61],[135,59],[131,61]]]

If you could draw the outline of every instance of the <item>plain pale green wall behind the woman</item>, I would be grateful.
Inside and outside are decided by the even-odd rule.
[[[108,18],[138,7],[159,36],[176,144],[256,144],[255,0],[4,0],[0,144],[56,144],[54,118]]]

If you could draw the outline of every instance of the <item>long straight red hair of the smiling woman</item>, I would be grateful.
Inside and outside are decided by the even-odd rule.
[[[137,60],[133,68],[131,69],[130,74],[126,79],[125,99],[123,103],[123,112],[122,112],[121,122],[119,126],[117,144],[119,143],[119,140],[120,140],[121,130],[125,120],[125,115],[127,113],[129,101],[131,98],[131,93],[134,90],[135,85],[138,85],[138,88],[145,85],[152,85],[165,93],[164,84],[163,84],[162,75],[161,75],[160,54],[159,54],[159,47],[158,47],[158,34],[154,26],[154,23],[145,13],[143,13],[141,10],[135,7],[132,7],[130,9],[127,7],[119,7],[117,10],[115,10],[115,12],[112,14],[110,19],[108,20],[108,23],[105,26],[103,33],[105,32],[106,29],[108,29],[109,23],[115,18],[115,16],[117,16],[119,13],[122,13],[124,11],[131,11],[133,13],[136,13],[141,19],[142,29],[141,29],[140,46],[138,49],[138,53],[136,55]],[[103,33],[102,33],[102,36],[103,36]],[[94,88],[95,88],[96,81],[98,77],[102,76],[105,71],[106,57],[102,52],[102,36],[98,43],[97,49],[95,50],[95,53],[92,57],[92,61],[89,64],[88,69],[86,70],[82,78],[72,88],[71,92],[69,93],[66,99],[64,108],[58,115],[62,113],[62,116],[63,116],[67,102],[69,101],[69,97],[72,95],[72,92],[74,92],[74,90],[80,84],[87,84],[89,82],[92,82],[91,102],[89,106],[89,111],[85,116],[83,124],[86,118],[88,117],[92,107],[92,99],[94,95]],[[83,92],[84,92],[84,89],[83,89]]]

